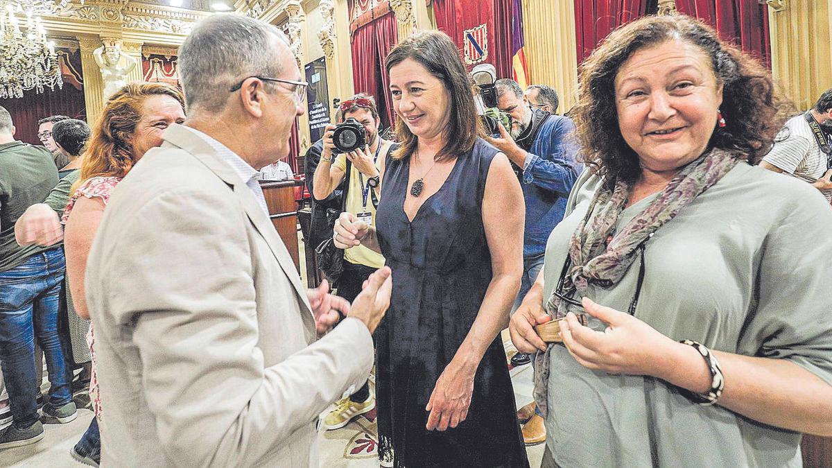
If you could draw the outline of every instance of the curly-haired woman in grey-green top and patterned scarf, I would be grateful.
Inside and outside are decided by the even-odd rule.
[[[592,195],[510,326],[537,351],[542,466],[800,466],[801,432],[832,436],[832,210],[752,166],[789,105],[684,16],[612,32],[581,77]],[[533,331],[544,307],[562,342]]]

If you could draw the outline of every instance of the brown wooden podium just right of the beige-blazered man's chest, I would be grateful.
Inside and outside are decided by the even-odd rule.
[[[298,202],[295,201],[295,187],[301,186],[303,183],[296,180],[260,181],[260,188],[263,189],[263,196],[265,197],[265,205],[269,208],[271,223],[275,225],[275,230],[283,239],[299,275]]]

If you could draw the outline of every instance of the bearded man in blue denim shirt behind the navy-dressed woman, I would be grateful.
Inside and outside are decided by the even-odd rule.
[[[501,79],[495,84],[497,107],[511,116],[511,130],[499,125],[500,137],[488,141],[513,163],[526,202],[523,275],[513,307],[517,310],[542,269],[549,234],[563,219],[569,192],[583,165],[577,162],[579,147],[572,135],[575,124],[571,119],[542,109],[532,110],[514,80]],[[520,352],[512,357],[514,366],[530,361],[528,355]],[[542,417],[534,413],[533,402],[518,411],[518,420],[523,425],[522,435],[527,446],[546,441],[546,429]]]

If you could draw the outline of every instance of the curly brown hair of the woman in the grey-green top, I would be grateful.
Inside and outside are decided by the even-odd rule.
[[[793,105],[775,87],[771,74],[754,58],[722,42],[716,31],[685,15],[642,17],[611,32],[582,63],[579,96],[570,116],[581,138],[584,160],[611,188],[617,181],[632,184],[641,163],[618,131],[615,78],[633,53],[662,42],[681,40],[699,47],[723,85],[722,117],[708,148],[734,152],[750,164],[769,152],[775,135],[793,113]]]

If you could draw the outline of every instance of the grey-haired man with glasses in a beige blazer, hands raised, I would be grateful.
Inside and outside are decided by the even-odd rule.
[[[210,17],[179,66],[189,118],[112,193],[87,263],[102,465],[317,468],[320,411],[373,365],[389,269],[350,307],[301,286],[272,227],[256,176],[305,87],[277,28]]]

